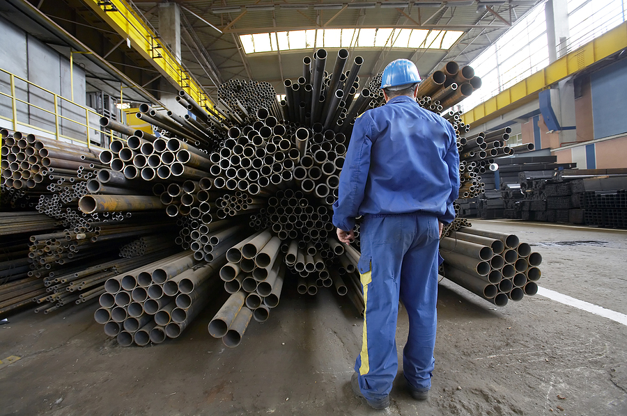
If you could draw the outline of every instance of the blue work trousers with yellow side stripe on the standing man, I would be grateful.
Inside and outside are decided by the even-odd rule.
[[[413,213],[366,216],[359,228],[364,290],[362,351],[355,371],[364,397],[377,400],[396,377],[396,319],[399,296],[409,315],[403,373],[421,391],[431,388],[438,298],[438,218]]]

